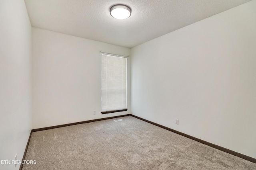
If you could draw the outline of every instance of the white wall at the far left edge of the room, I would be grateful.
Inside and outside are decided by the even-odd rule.
[[[31,130],[31,25],[24,0],[0,1],[0,160],[22,160]],[[1,170],[20,164],[0,164]]]

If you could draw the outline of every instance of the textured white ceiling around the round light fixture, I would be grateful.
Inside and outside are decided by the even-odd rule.
[[[25,0],[33,27],[123,47],[141,43],[203,20],[250,0]],[[110,7],[126,4],[126,20]]]

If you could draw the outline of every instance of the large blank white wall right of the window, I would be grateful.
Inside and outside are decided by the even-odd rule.
[[[132,48],[132,114],[256,158],[255,9],[253,0]]]

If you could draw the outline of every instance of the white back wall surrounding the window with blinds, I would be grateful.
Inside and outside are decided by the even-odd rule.
[[[129,84],[128,111],[101,114],[100,53],[129,55],[129,48],[35,27],[32,43],[32,129],[130,113]]]

